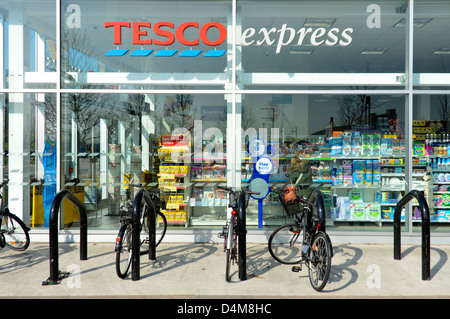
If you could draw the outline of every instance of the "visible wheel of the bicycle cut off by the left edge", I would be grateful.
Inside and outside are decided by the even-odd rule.
[[[5,238],[5,244],[14,250],[25,250],[30,245],[28,227],[23,221],[8,211],[3,212],[0,232]]]

